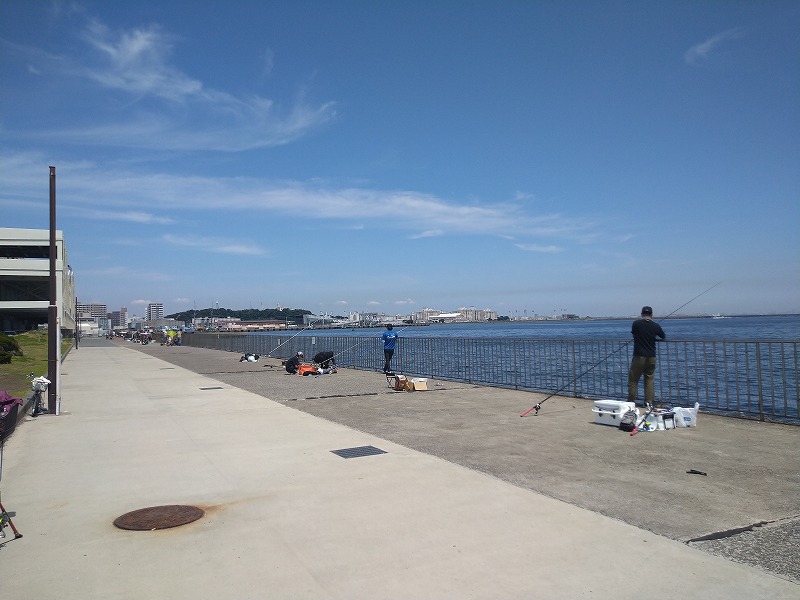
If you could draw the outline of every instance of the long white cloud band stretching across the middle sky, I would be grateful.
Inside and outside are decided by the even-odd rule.
[[[47,177],[44,157],[35,154],[20,156],[0,151],[0,206],[18,199],[41,199],[40,180]],[[391,218],[399,230],[405,229],[414,238],[445,235],[491,235],[503,239],[536,238],[594,242],[599,239],[598,225],[584,217],[560,214],[536,214],[519,203],[458,204],[431,194],[404,190],[322,187],[319,182],[273,181],[253,177],[211,178],[184,176],[175,173],[136,172],[92,164],[88,161],[58,166],[59,173],[68,172],[59,185],[60,203],[73,211],[85,211],[90,218],[171,224],[173,219],[160,214],[169,206],[173,214],[191,209],[246,214],[248,219],[263,215],[293,216],[297,206],[313,206],[307,222],[339,222],[344,227],[355,217],[356,229],[381,226]],[[428,226],[419,232],[419,224]],[[604,233],[604,235],[607,235]],[[209,251],[233,254],[264,254],[253,244],[228,241],[200,241],[173,237],[170,243],[195,245]],[[523,250],[554,252],[553,245],[521,244]]]

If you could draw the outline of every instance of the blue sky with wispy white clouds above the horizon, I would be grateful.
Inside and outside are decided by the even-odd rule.
[[[124,6],[124,10],[121,7]],[[81,302],[800,312],[800,2],[0,3]]]

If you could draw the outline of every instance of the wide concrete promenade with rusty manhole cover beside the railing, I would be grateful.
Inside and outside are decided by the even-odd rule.
[[[0,597],[800,597],[800,428],[701,414],[631,437],[589,400],[520,418],[544,396],[429,385],[83,340],[62,414],[5,444],[24,537],[0,547]],[[332,453],[366,445],[385,453]],[[172,504],[205,516],[113,525]]]

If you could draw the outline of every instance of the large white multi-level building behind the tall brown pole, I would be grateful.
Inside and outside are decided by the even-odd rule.
[[[71,334],[75,274],[63,231],[56,231],[56,306],[62,333]],[[0,331],[35,329],[47,323],[49,310],[50,230],[0,228]]]

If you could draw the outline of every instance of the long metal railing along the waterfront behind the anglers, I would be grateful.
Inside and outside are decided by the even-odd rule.
[[[340,366],[383,368],[376,337],[202,333],[184,335],[183,343],[274,358],[299,350],[310,359],[330,350]],[[402,337],[392,366],[419,377],[625,399],[632,348],[613,339]],[[800,423],[800,341],[668,340],[658,350],[657,400],[683,406],[699,402],[701,409],[720,414]]]

